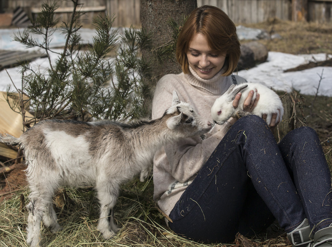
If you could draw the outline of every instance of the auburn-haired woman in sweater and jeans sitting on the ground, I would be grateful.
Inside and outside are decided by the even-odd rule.
[[[160,79],[152,118],[163,115],[175,90],[212,121],[215,99],[231,84],[246,82],[231,75],[239,56],[236,27],[228,16],[212,6],[195,9],[178,37],[176,58],[183,72]],[[246,111],[259,100],[252,101],[252,95],[243,105]],[[204,140],[183,139],[155,155],[154,199],[172,219],[174,232],[225,243],[237,232],[263,230],[276,218],[294,246],[330,246],[331,175],[315,131],[295,129],[277,144],[264,118],[230,119]],[[273,114],[270,127],[276,124]]]

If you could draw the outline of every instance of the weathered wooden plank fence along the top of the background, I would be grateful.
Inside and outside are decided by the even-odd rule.
[[[44,0],[7,0],[8,8],[18,6],[30,9],[32,14],[38,13]],[[307,0],[307,20],[331,22],[332,0]],[[71,1],[60,1],[57,15],[66,21]],[[140,0],[80,0],[82,11],[87,14],[83,22],[91,23],[93,17],[100,13],[115,14],[113,26],[140,26]],[[225,11],[236,24],[258,23],[269,18],[292,20],[292,0],[197,0],[197,5],[213,5]],[[33,6],[33,7],[32,7]]]

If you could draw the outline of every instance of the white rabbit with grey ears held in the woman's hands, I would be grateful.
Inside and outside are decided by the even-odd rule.
[[[247,98],[249,91],[257,89],[259,92],[259,101],[252,112],[243,111],[243,103]],[[257,91],[254,90],[253,100],[257,97]],[[241,92],[238,107],[234,109],[233,100]],[[244,117],[246,115],[257,115],[262,117],[267,114],[266,123],[271,123],[272,114],[277,113],[277,122],[280,122],[284,115],[284,107],[280,97],[267,86],[260,83],[247,83],[231,85],[227,92],[215,100],[211,107],[211,116],[216,124],[224,124],[230,117]]]

